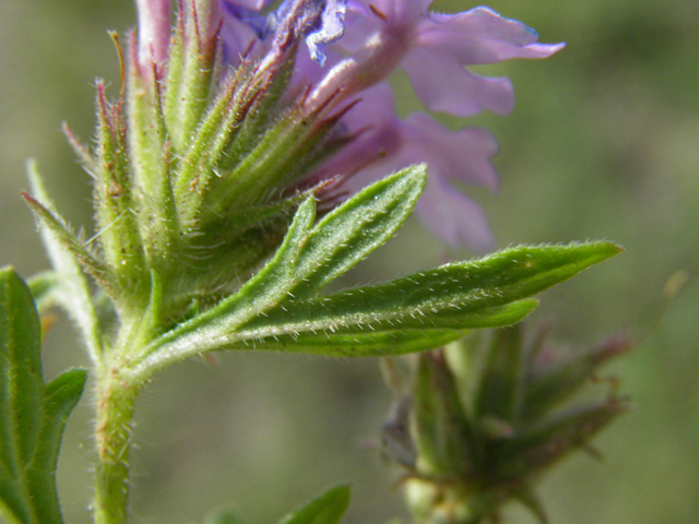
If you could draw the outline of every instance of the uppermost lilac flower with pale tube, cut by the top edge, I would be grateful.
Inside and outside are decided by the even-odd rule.
[[[537,44],[533,29],[487,8],[435,14],[427,11],[430,3],[355,0],[351,4],[354,16],[339,43],[351,56],[328,73],[313,96],[323,99],[340,88],[356,94],[386,80],[400,67],[430,110],[462,117],[484,108],[507,114],[514,103],[510,81],[479,76],[465,67],[512,58],[546,58],[564,47]]]

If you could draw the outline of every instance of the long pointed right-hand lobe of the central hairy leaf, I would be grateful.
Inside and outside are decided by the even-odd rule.
[[[508,325],[525,313],[519,319],[517,314],[498,319],[502,310],[496,308],[540,293],[618,252],[618,247],[607,242],[513,248],[381,285],[311,300],[288,300],[236,327],[226,338],[235,342],[300,332]],[[517,307],[532,309],[531,303]],[[494,312],[499,322],[491,320]]]

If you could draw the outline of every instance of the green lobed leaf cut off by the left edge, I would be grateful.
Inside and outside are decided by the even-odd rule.
[[[20,524],[60,524],[56,465],[66,420],[87,373],[42,378],[40,326],[26,284],[0,270],[0,513]]]

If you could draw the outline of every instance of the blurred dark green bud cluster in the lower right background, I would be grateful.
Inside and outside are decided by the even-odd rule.
[[[417,523],[496,523],[511,500],[547,523],[535,481],[570,452],[592,450],[592,438],[627,409],[614,380],[599,401],[566,401],[630,349],[629,341],[562,354],[544,330],[529,343],[522,331],[494,331],[481,348],[473,340],[420,354],[410,391],[387,362],[399,407],[383,428],[384,454],[407,472],[403,486]]]

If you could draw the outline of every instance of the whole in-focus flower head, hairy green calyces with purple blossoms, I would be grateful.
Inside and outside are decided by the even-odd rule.
[[[451,182],[495,189],[495,140],[481,129],[452,133],[426,114],[399,119],[386,80],[405,69],[431,110],[506,112],[508,80],[465,67],[560,45],[536,44],[485,8],[439,15],[429,4],[180,0],[170,27],[169,0],[138,0],[121,96],[111,103],[97,84],[96,145],[68,132],[95,180],[94,241],[78,241],[27,200],[134,322],[155,288],[165,324],[209,309],[279,248],[308,196],[323,214],[414,164],[429,166],[417,204],[425,224],[485,249],[481,209]]]

